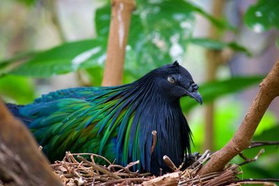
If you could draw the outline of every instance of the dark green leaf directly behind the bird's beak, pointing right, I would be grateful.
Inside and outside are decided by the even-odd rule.
[[[229,93],[235,93],[253,84],[259,84],[264,77],[232,77],[230,79],[218,80],[202,84],[199,93],[202,95],[204,103],[212,102]],[[181,107],[183,111],[189,111],[197,106],[197,102],[193,99],[181,99]]]

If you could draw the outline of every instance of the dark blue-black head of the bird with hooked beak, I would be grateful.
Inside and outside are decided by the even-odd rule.
[[[177,61],[173,64],[164,65],[156,70],[155,83],[159,91],[170,99],[190,96],[202,104],[202,96],[197,89],[199,86],[193,81],[188,70],[183,68]]]

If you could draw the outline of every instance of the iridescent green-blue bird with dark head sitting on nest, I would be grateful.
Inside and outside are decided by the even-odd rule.
[[[192,133],[179,100],[189,96],[202,104],[198,88],[175,61],[130,84],[62,89],[31,104],[6,105],[51,162],[66,151],[97,153],[123,166],[140,160],[134,169],[159,175],[169,171],[164,155],[179,166],[191,154]]]

